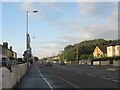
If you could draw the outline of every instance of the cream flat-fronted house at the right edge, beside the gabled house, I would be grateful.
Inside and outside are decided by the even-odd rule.
[[[113,42],[107,47],[107,57],[120,56],[120,41]]]

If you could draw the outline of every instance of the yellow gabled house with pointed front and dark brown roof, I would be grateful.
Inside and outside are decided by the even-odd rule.
[[[101,57],[106,57],[107,56],[107,46],[99,44],[96,46],[93,56],[94,58],[101,58]]]

